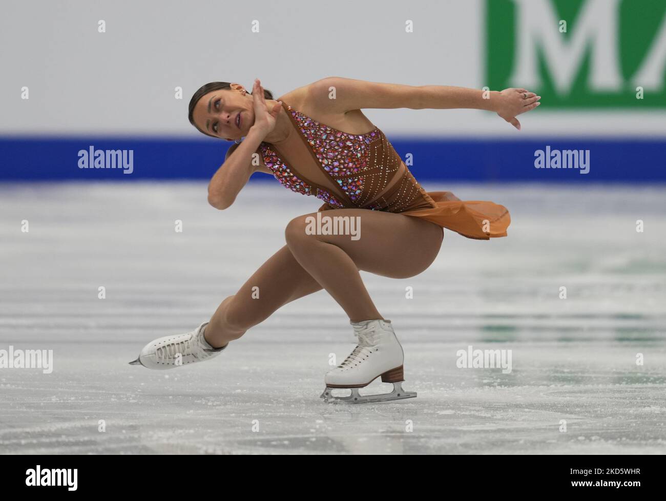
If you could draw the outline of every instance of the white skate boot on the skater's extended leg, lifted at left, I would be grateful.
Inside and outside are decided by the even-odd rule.
[[[165,370],[180,365],[190,365],[210,360],[210,358],[218,356],[228,344],[225,344],[222,348],[210,346],[203,335],[203,329],[206,325],[208,325],[208,322],[203,322],[187,334],[164,336],[152,340],[143,347],[139,358],[129,363],[131,365],[143,365],[149,369]]]

